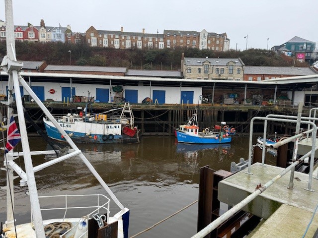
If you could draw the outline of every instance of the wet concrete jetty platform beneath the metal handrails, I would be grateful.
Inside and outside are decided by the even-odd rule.
[[[251,166],[253,175],[246,174],[245,169],[220,181],[218,199],[226,204],[236,205],[254,192],[256,186],[264,185],[283,170],[284,168],[255,163]],[[288,189],[289,172],[246,205],[244,211],[267,219],[249,237],[302,237],[318,202],[316,176],[317,170],[314,171],[312,180],[311,188],[314,191],[305,189],[308,188],[309,175],[300,172],[295,172],[294,188]],[[310,226],[306,237],[313,237],[315,234],[318,227],[317,220],[316,215],[315,222]]]

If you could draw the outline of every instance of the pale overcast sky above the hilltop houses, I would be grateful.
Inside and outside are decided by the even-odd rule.
[[[13,0],[15,25],[163,33],[189,30],[227,33],[231,49],[267,49],[294,36],[318,42],[318,0]],[[5,21],[4,0],[0,19]],[[267,41],[267,38],[269,40]]]

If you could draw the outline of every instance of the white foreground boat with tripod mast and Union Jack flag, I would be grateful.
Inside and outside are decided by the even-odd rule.
[[[13,108],[8,107],[7,117],[10,119],[10,123],[7,129],[8,136],[5,146],[4,163],[2,163],[4,168],[1,168],[1,170],[5,171],[1,176],[6,177],[6,185],[2,187],[6,192],[6,196],[4,196],[6,197],[6,220],[0,221],[0,237],[128,238],[129,209],[119,202],[115,194],[72,141],[68,133],[64,131],[61,122],[57,122],[54,119],[49,110],[26,83],[25,79],[19,75],[23,62],[17,61],[15,56],[12,0],[5,0],[5,16],[7,55],[1,62],[1,69],[9,75],[9,97],[6,104],[12,105],[15,103],[17,114],[13,114]],[[26,131],[20,86],[29,93],[52,125],[54,125],[59,133],[64,135],[66,142],[69,144],[68,147],[65,147],[66,150],[62,154],[54,156],[50,161],[44,161],[36,166],[33,166],[34,157],[45,157],[49,154],[54,155],[56,151],[31,151]],[[13,102],[13,93],[15,94],[15,102]],[[16,116],[19,121],[19,128],[17,128],[13,119]],[[20,143],[19,141],[22,144],[22,151],[14,152],[14,147],[17,143]],[[45,194],[47,192],[43,192],[41,185],[36,182],[36,179],[39,179],[36,173],[51,166],[59,166],[58,163],[62,161],[67,163],[68,159],[73,159],[75,156],[81,161],[78,166],[86,166],[103,189],[99,190],[99,194]],[[23,158],[24,163],[21,163],[21,158]],[[16,159],[18,160],[15,161]],[[63,176],[64,171],[61,170],[60,173]],[[107,173],[107,171],[104,173]],[[14,179],[17,178],[20,178],[20,181],[14,182]],[[72,182],[70,181],[70,183]],[[68,184],[65,185],[68,187]],[[25,187],[25,194],[30,199],[29,204],[23,205],[29,207],[27,213],[30,215],[30,219],[27,221],[19,219],[21,215],[25,214],[25,211],[20,211],[19,213],[19,205],[16,205],[14,200],[16,198],[14,191],[21,190],[19,186]],[[50,184],[46,184],[46,186],[50,186]],[[2,200],[2,202],[4,201]],[[110,207],[112,209],[115,208],[110,203],[114,203],[113,205],[116,204],[117,211],[110,212]]]

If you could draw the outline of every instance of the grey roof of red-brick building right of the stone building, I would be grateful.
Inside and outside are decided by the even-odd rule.
[[[315,75],[309,67],[245,66],[244,74]]]

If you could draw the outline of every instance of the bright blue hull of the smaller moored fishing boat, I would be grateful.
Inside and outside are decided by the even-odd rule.
[[[177,141],[181,143],[193,143],[193,144],[223,144],[230,143],[232,141],[231,136],[227,137],[216,137],[215,135],[207,136],[194,136],[186,133],[176,131]]]

